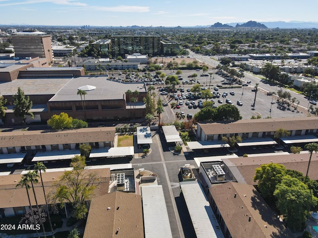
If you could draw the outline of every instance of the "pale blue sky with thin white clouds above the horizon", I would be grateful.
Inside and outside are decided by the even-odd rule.
[[[318,0],[0,0],[0,24],[195,26],[315,21]]]

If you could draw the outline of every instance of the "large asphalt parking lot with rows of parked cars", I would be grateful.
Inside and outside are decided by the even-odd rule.
[[[190,70],[189,70],[190,71]],[[202,70],[201,70],[202,71]],[[195,71],[194,71],[195,72]],[[193,72],[186,72],[185,75],[191,75]],[[200,73],[200,72],[199,72]],[[184,73],[183,73],[184,74]],[[183,75],[182,74],[182,75]],[[183,75],[184,77],[184,75]],[[197,78],[199,78],[198,76]],[[213,77],[213,76],[212,76]],[[202,103],[205,101],[214,101],[214,106],[220,106],[228,103],[233,103],[236,107],[238,107],[240,115],[242,119],[251,119],[252,116],[255,118],[290,118],[290,117],[301,117],[307,116],[304,114],[304,109],[301,107],[297,107],[297,105],[291,105],[289,108],[281,103],[276,102],[275,95],[267,95],[267,92],[262,90],[260,86],[258,86],[258,90],[256,92],[256,100],[254,104],[255,98],[255,85],[251,84],[250,82],[247,86],[238,86],[238,88],[227,88],[228,85],[222,85],[222,81],[224,80],[223,77],[220,75],[215,74],[214,80],[212,80],[210,84],[210,76],[209,77],[201,77],[201,88],[208,88],[210,87],[211,93],[218,93],[219,97],[211,98],[211,99],[190,99],[187,97],[183,99],[181,89],[184,91],[185,95],[189,95],[189,89],[193,87],[194,84],[180,84],[176,86],[177,92],[176,97],[170,98],[169,95],[160,95],[163,104],[166,106],[164,107],[165,112],[162,114],[164,122],[173,122],[176,117],[176,113],[184,113],[185,115],[191,114],[195,115],[197,112],[201,110]],[[217,91],[215,87],[218,85]],[[222,87],[225,86],[225,87]],[[162,88],[161,86],[159,88]],[[159,92],[158,92],[159,95]],[[182,102],[181,105],[179,102]],[[193,101],[193,102],[191,102]],[[178,106],[171,108],[171,103],[175,103]],[[297,108],[296,108],[297,107]],[[295,109],[296,108],[296,109]],[[306,109],[305,109],[306,111]],[[174,117],[173,117],[174,116]],[[186,118],[182,119],[186,120]]]

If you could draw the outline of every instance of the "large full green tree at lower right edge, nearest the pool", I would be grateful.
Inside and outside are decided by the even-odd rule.
[[[311,207],[317,205],[317,197],[304,182],[289,175],[281,178],[273,194],[277,198],[277,208],[286,215],[287,226],[293,232],[301,231]]]

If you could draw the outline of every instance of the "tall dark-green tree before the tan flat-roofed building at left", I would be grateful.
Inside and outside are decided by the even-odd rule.
[[[24,91],[18,87],[18,91],[15,95],[12,96],[13,98],[13,112],[14,115],[22,120],[25,124],[26,116],[30,116],[34,119],[33,113],[30,112],[32,108],[32,101],[30,100],[29,96],[24,95]]]

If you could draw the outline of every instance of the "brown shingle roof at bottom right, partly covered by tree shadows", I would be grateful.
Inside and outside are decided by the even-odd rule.
[[[293,237],[252,185],[227,182],[209,190],[232,238]]]

